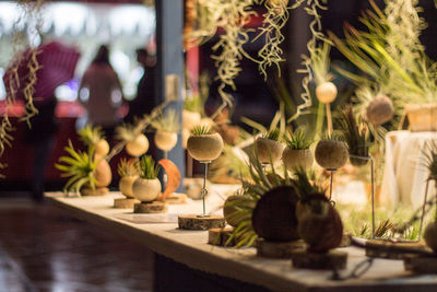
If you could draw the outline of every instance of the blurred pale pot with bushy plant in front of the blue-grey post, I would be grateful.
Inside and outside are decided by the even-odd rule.
[[[163,151],[170,151],[177,143],[177,132],[180,128],[176,112],[161,113],[151,125],[156,130],[154,137],[156,147]]]

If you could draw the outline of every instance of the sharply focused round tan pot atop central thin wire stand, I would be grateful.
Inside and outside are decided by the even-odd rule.
[[[190,136],[187,141],[190,155],[201,162],[216,160],[223,150],[223,139],[220,133]]]

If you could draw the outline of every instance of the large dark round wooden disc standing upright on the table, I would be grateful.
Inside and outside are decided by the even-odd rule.
[[[297,200],[297,195],[292,187],[276,187],[267,191],[252,213],[252,225],[258,236],[268,242],[298,240]]]

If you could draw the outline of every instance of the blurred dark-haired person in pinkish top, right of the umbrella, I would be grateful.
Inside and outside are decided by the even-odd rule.
[[[86,122],[101,126],[110,140],[121,117],[118,108],[123,101],[122,86],[109,62],[109,48],[102,45],[82,77],[79,101],[87,110]]]

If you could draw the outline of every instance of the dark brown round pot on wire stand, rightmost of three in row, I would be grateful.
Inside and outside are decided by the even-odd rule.
[[[342,141],[320,140],[317,143],[315,156],[317,163],[326,170],[338,170],[349,157],[347,147]]]

